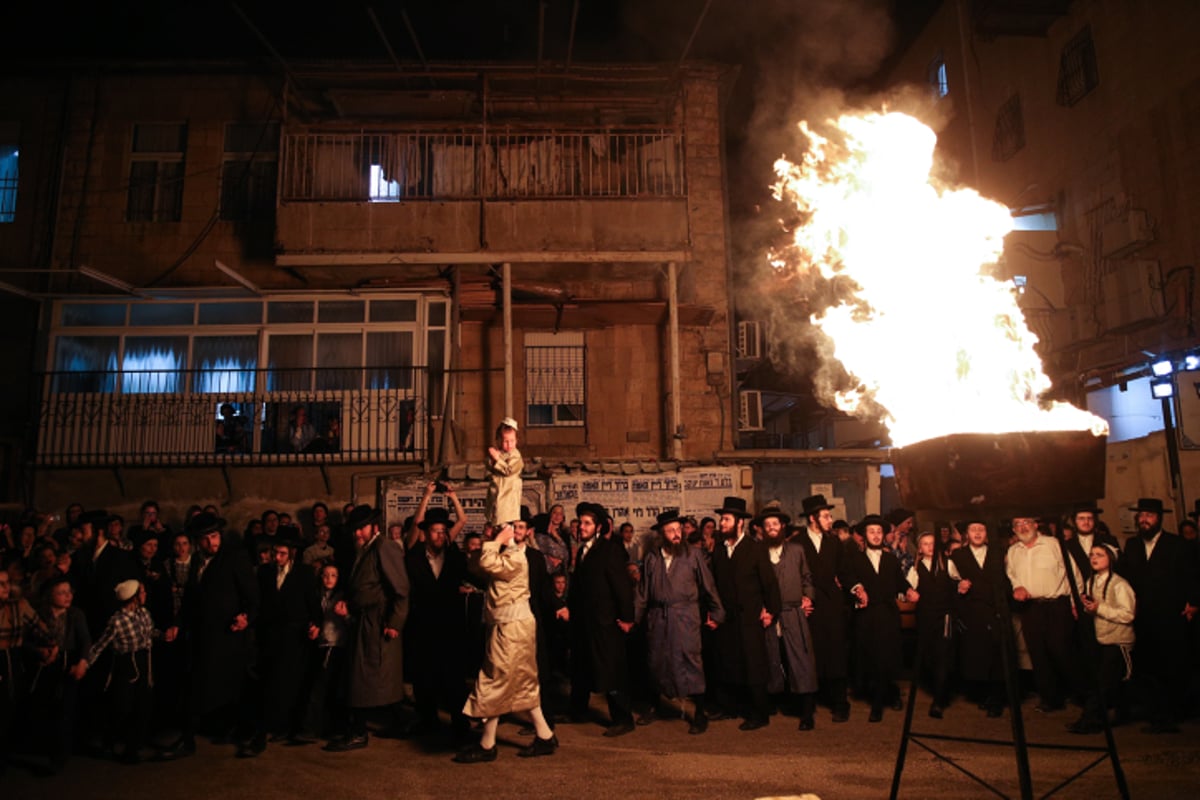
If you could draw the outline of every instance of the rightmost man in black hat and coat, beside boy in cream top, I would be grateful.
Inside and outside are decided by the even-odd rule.
[[[1126,543],[1123,572],[1138,597],[1134,674],[1150,692],[1147,733],[1178,733],[1187,693],[1187,643],[1200,606],[1195,549],[1163,530],[1169,510],[1156,498],[1141,498],[1138,535]]]

